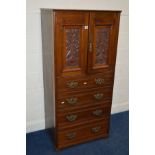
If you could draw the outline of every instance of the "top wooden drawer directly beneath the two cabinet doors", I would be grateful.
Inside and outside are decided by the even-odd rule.
[[[98,74],[85,77],[59,77],[56,78],[57,91],[77,91],[90,88],[113,86],[113,73]]]

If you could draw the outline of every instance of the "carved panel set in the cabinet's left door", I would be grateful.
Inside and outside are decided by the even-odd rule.
[[[66,66],[79,66],[80,29],[66,29]]]

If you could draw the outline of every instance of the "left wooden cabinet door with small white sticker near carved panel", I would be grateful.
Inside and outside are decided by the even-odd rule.
[[[55,12],[55,62],[57,76],[85,74],[89,12]]]

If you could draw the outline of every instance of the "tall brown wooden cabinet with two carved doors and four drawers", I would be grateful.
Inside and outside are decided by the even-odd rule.
[[[108,136],[120,13],[41,9],[57,149]]]

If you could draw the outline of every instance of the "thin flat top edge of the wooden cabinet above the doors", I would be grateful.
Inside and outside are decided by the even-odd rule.
[[[122,12],[122,10],[79,10],[79,9],[50,9],[50,8],[40,8],[41,11],[102,11],[102,12]]]

